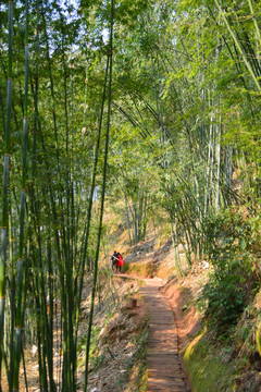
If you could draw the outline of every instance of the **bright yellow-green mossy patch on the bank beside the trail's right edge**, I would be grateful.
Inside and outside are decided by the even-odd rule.
[[[234,378],[240,366],[229,360],[229,347],[211,342],[207,332],[186,347],[184,363],[194,392],[234,391]]]

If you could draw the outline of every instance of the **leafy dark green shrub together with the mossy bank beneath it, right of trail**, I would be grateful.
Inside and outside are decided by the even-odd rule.
[[[209,217],[207,233],[211,269],[198,298],[206,330],[184,352],[192,391],[257,392],[260,225],[244,211],[227,209]]]

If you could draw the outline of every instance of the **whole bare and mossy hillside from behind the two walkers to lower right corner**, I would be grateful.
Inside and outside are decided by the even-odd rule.
[[[117,241],[124,255],[121,238],[124,238],[123,233],[113,243]],[[225,330],[222,326],[224,316],[220,314],[213,318],[203,294],[213,284],[214,266],[210,260],[198,260],[190,271],[185,270],[186,256],[181,245],[184,275],[178,278],[171,238],[148,234],[148,241],[125,252],[125,273],[163,281],[161,292],[175,315],[178,350],[191,390],[259,391],[261,357],[256,340],[261,310],[259,286],[252,291],[251,281],[248,281],[245,307]]]

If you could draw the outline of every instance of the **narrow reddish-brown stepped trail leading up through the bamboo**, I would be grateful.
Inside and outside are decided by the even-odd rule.
[[[188,392],[178,355],[177,327],[173,310],[159,291],[162,281],[156,279],[142,279],[142,281],[146,282],[146,286],[140,289],[140,294],[150,318],[147,392]]]

